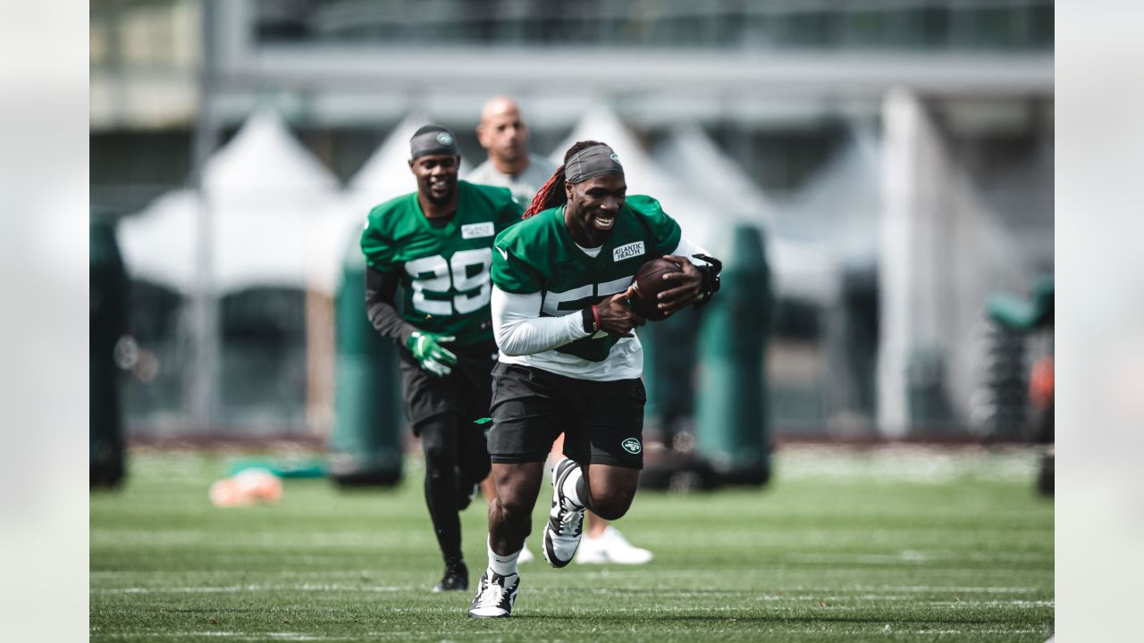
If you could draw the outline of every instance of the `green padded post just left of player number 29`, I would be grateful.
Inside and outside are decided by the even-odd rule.
[[[365,260],[356,243],[345,256],[335,305],[329,477],[343,485],[392,485],[402,478],[404,428],[397,347],[366,317]]]

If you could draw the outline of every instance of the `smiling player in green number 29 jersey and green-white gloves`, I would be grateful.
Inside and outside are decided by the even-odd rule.
[[[488,414],[496,357],[488,267],[496,233],[522,215],[507,189],[458,181],[460,161],[451,132],[419,129],[408,161],[418,191],[373,208],[362,232],[366,312],[399,347],[405,414],[426,457],[426,503],[445,562],[435,592],[468,588],[458,511],[490,468],[474,423]]]

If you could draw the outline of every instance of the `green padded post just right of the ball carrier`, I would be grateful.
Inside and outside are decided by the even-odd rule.
[[[699,336],[699,452],[728,484],[770,478],[765,357],[773,295],[760,231],[736,225],[723,256],[723,287],[704,310]]]

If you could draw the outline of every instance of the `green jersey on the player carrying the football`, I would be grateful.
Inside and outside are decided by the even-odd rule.
[[[496,237],[493,284],[507,293],[541,293],[542,317],[567,315],[627,289],[644,262],[670,254],[680,239],[678,223],[659,201],[634,195],[593,257],[572,240],[564,207],[546,209]],[[601,332],[555,350],[598,363],[607,359],[615,343],[615,336]],[[557,362],[574,366],[567,359]]]

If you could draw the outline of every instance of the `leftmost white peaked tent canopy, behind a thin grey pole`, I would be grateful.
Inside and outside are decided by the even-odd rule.
[[[190,293],[197,287],[198,220],[210,216],[210,289],[251,285],[329,292],[316,278],[340,263],[327,231],[337,181],[269,111],[255,113],[204,168],[204,192],[175,190],[120,227],[128,270],[136,278]]]

